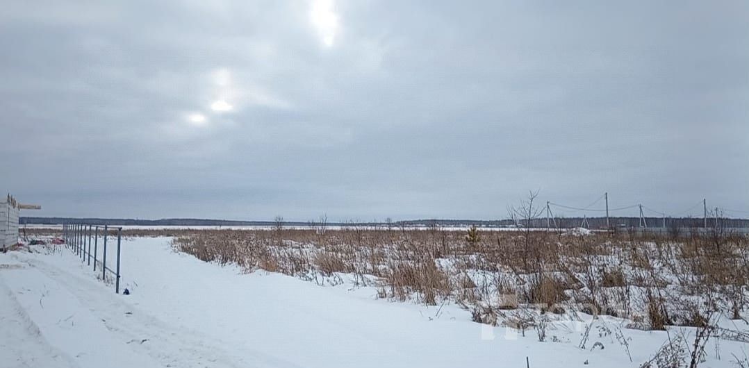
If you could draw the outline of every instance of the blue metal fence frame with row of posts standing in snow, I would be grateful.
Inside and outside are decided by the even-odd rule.
[[[101,272],[102,280],[106,280],[106,273],[109,272],[115,277],[115,292],[120,293],[120,252],[122,245],[122,227],[95,226],[91,224],[63,224],[63,240],[65,245],[74,254],[80,257],[82,263],[87,266],[94,266],[94,272],[98,269]],[[101,230],[101,233],[100,233]],[[117,260],[115,260],[115,269],[112,270],[106,263],[107,242],[110,233],[117,236]],[[100,253],[99,239],[103,238],[102,249]],[[93,253],[91,250],[93,247]],[[99,256],[101,255],[101,260]]]

